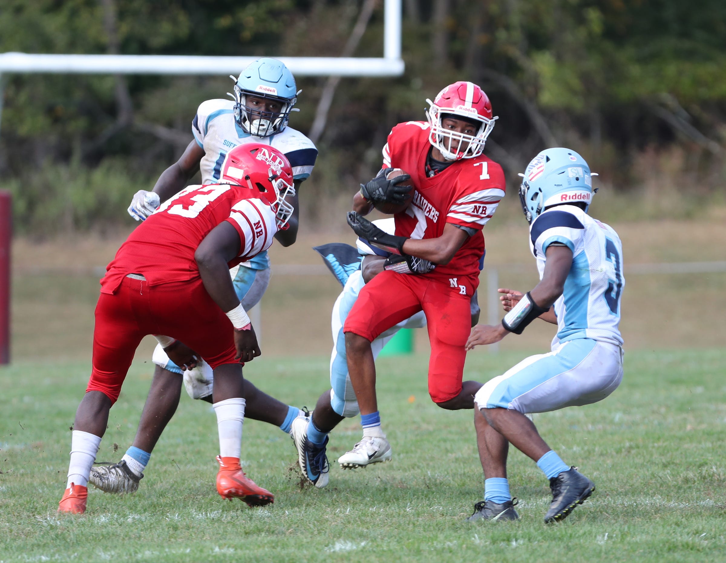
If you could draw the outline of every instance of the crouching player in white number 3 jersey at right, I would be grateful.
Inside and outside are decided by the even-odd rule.
[[[467,349],[521,334],[537,317],[558,325],[558,332],[552,352],[526,358],[474,397],[486,480],[484,501],[476,503],[470,522],[518,519],[507,482],[510,443],[550,479],[552,503],[544,522],[565,519],[595,490],[595,483],[567,466],[525,416],[603,400],[623,376],[622,246],[611,227],[587,214],[592,194],[590,168],[574,150],[543,150],[523,175],[519,197],[540,282],[524,295],[500,289],[506,293],[500,298],[504,320],[474,327]]]

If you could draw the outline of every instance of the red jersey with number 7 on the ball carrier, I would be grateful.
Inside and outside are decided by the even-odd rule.
[[[393,216],[396,235],[438,238],[444,234],[446,223],[473,232],[449,264],[425,274],[472,295],[479,285],[479,259],[484,254],[481,230],[505,195],[504,172],[491,158],[480,155],[462,158],[428,177],[428,136],[429,124],[425,121],[399,123],[383,147],[383,166],[406,171],[415,187],[411,205]]]

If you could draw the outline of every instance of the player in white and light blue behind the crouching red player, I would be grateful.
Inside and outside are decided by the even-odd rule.
[[[160,201],[178,193],[197,170],[203,184],[216,184],[232,147],[264,143],[285,154],[292,166],[295,195],[289,195],[287,201],[294,211],[289,228],[277,232],[275,238],[283,246],[293,244],[298,232],[298,190],[317,158],[317,149],[310,139],[287,126],[298,93],[295,78],[279,60],[262,58],[248,65],[235,81],[234,100],[207,100],[199,106],[192,121],[194,140],[179,161],[161,174],[152,192],[139,190],[134,195],[129,214],[137,220],[146,219]],[[267,251],[239,264],[231,273],[242,307],[251,309],[269,283]],[[144,408],[134,443],[120,463],[97,466],[91,471],[91,483],[107,493],[131,493],[139,487],[151,452],[179,405],[183,366],[171,361],[161,346],[156,347],[152,360],[156,368],[147,402],[155,415],[150,416],[150,409]],[[193,399],[211,400],[213,378],[203,362],[187,371],[184,384]],[[301,411],[261,392],[247,379],[244,385],[249,400],[247,417],[290,432],[292,421],[302,416]]]

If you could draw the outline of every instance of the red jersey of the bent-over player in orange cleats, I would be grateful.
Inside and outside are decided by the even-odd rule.
[[[274,211],[257,190],[189,186],[129,235],[106,267],[101,293],[115,293],[127,274],[141,274],[149,285],[198,279],[197,246],[224,221],[240,235],[240,254],[229,262],[230,268],[267,250],[277,232]]]

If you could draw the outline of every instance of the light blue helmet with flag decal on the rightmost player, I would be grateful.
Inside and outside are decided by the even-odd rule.
[[[590,207],[592,194],[592,174],[590,166],[582,156],[567,148],[545,149],[535,156],[527,166],[522,185],[519,188],[519,201],[524,216],[531,224],[544,208],[560,203],[585,204]]]

